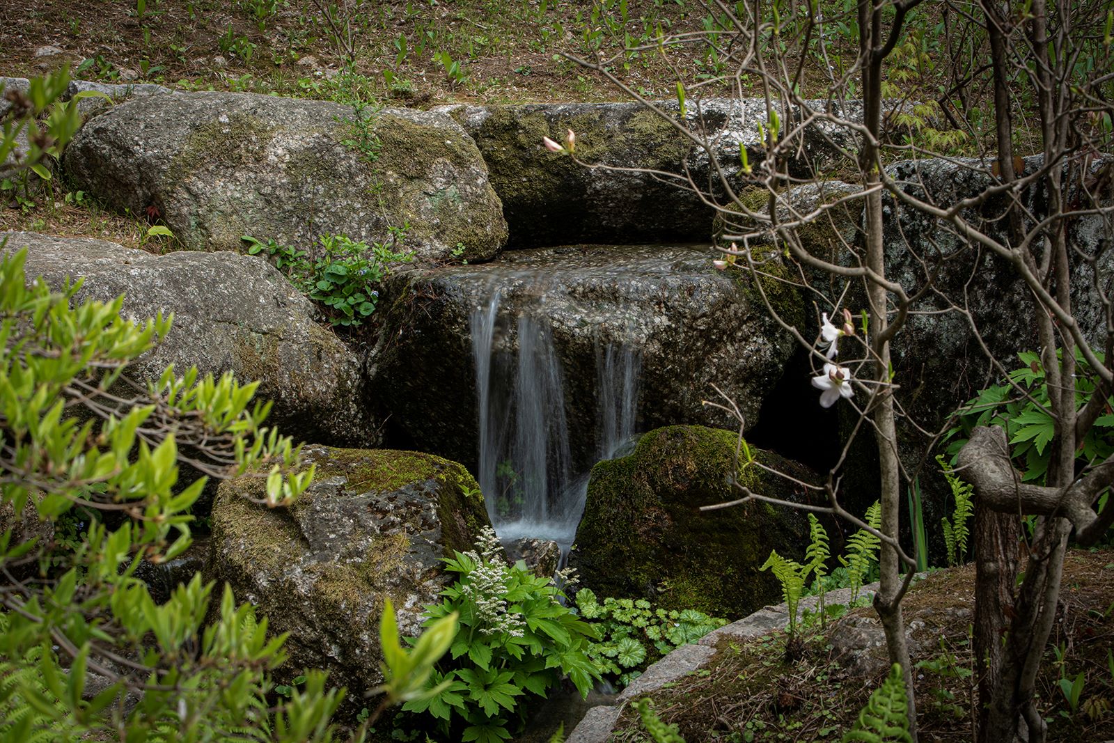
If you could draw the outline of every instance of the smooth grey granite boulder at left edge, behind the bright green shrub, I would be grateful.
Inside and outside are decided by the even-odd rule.
[[[236,253],[153,255],[116,243],[33,233],[7,235],[7,252],[27,247],[27,275],[61,286],[85,280],[78,299],[125,295],[124,314],[145,320],[174,313],[174,326],[131,366],[158,379],[168,364],[180,372],[232,371],[260,381],[272,400],[268,422],[297,439],[328,443],[378,442],[365,401],[361,362],[314,321],[313,305],[261,257]]]

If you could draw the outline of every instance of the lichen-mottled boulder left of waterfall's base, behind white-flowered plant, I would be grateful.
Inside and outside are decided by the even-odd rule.
[[[421,633],[444,587],[441,558],[471,549],[487,526],[460,465],[417,452],[309,447],[313,485],[268,509],[260,478],[221,485],[213,506],[213,577],[290,633],[289,675],[326,668],[355,700],[382,682],[379,618],[394,605],[403,636]]]

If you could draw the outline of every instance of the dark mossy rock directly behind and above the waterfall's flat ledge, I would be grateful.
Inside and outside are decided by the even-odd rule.
[[[638,104],[460,106],[450,113],[487,162],[511,247],[709,238],[712,211],[694,193],[648,173],[586,168],[541,146],[543,137],[563,140],[573,129],[585,163],[682,173],[690,140]]]

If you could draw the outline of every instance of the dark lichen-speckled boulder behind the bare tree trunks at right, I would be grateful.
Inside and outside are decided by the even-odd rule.
[[[1025,158],[1024,173],[1042,167],[1043,158]],[[908,193],[948,208],[995,184],[990,164],[974,159],[925,159],[896,163],[887,174]],[[1000,194],[962,212],[976,228],[1007,244],[1003,218],[1009,196]],[[1074,197],[1078,198],[1078,197]],[[1019,194],[1028,218],[1047,214],[1043,187]],[[1083,208],[1079,201],[1072,208]],[[1028,222],[1027,229],[1034,224]],[[912,294],[929,278],[934,291],[910,307],[913,312],[893,343],[897,382],[912,392],[906,410],[918,424],[937,429],[955,408],[987,384],[989,363],[974,333],[979,329],[988,350],[1007,369],[1018,365],[1018,351],[1036,350],[1038,340],[1032,295],[1024,281],[1006,261],[960,237],[942,221],[899,205],[887,197],[883,229],[888,278]],[[1114,257],[1103,250],[1110,234],[1097,214],[1082,215],[1065,224],[1072,250],[1072,310],[1085,335],[1104,338],[1104,311],[1094,286],[1094,272],[1081,255],[1098,257],[1102,281],[1114,272]],[[1103,286],[1103,294],[1110,287]],[[969,317],[951,311],[966,307]],[[1096,334],[1097,333],[1097,334]]]

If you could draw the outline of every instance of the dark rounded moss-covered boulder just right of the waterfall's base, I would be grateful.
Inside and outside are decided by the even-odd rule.
[[[571,555],[584,585],[600,596],[653,597],[729,618],[778,603],[778,580],[760,568],[771,549],[802,558],[804,515],[762,502],[700,510],[741,496],[729,483],[736,446],[732,431],[672,426],[645,434],[632,454],[596,465]],[[763,465],[810,479],[799,465],[752,451]],[[755,492],[803,501],[801,486],[756,467],[736,477]]]

